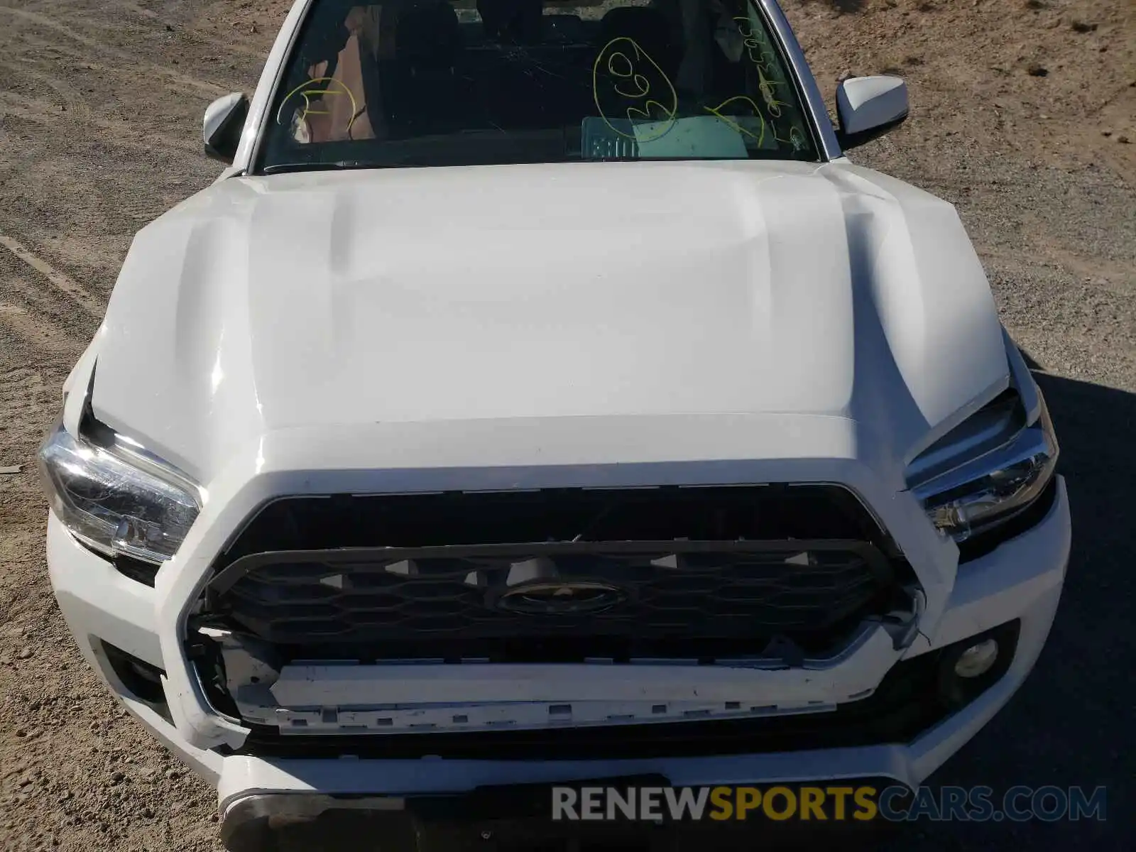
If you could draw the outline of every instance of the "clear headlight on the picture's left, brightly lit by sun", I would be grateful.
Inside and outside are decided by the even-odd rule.
[[[57,423],[40,448],[39,467],[59,519],[107,556],[162,562],[201,511],[193,483],[122,438],[94,443]]]

